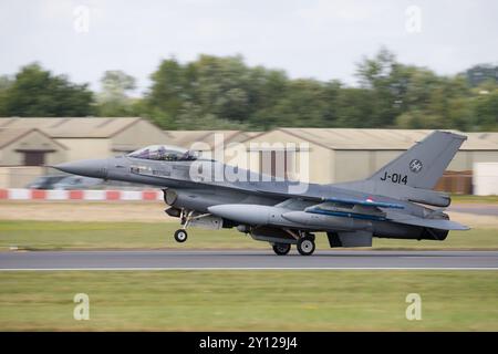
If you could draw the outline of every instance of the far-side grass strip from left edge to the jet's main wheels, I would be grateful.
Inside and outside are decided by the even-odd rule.
[[[122,248],[258,248],[245,233],[234,230],[189,229],[185,243],[177,243],[173,222],[56,222],[0,221],[0,249],[122,249]]]

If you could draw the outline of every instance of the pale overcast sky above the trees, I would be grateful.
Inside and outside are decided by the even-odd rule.
[[[382,45],[442,74],[497,63],[498,1],[0,0],[0,74],[39,61],[94,90],[124,70],[144,91],[162,59],[200,53],[355,84]]]

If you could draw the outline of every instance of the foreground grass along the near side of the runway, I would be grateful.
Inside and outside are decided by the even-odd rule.
[[[2,272],[0,330],[498,331],[494,271]],[[90,296],[90,320],[73,298]],[[408,293],[422,321],[407,321]]]

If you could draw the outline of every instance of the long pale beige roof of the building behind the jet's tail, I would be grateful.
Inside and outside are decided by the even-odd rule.
[[[360,128],[278,128],[277,131],[330,149],[407,149],[422,140],[432,129],[360,129]],[[473,134],[466,135],[463,150],[498,150],[498,143],[486,140]],[[259,136],[269,134],[261,133]],[[249,140],[248,138],[247,140]]]

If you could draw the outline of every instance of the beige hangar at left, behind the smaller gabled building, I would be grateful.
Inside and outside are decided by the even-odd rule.
[[[162,129],[139,117],[1,118],[0,128],[37,128],[68,148],[68,160],[108,157],[167,143]]]

